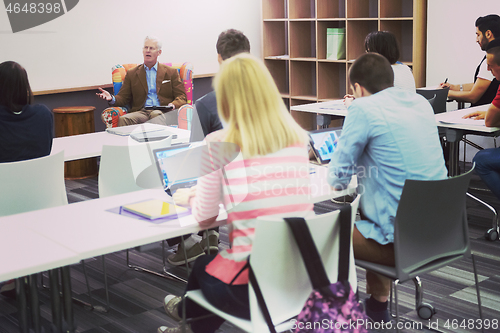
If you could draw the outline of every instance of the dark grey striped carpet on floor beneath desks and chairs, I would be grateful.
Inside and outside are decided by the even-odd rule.
[[[66,181],[68,199],[70,203],[89,200],[98,197],[97,179]],[[472,189],[474,188],[474,189]],[[492,204],[498,210],[500,202],[490,192],[484,190],[484,184],[474,177],[470,193]],[[324,213],[335,209],[331,202],[323,202],[315,206],[317,213]],[[479,273],[483,316],[485,326],[490,329],[485,332],[498,332],[500,329],[500,241],[485,240],[484,233],[491,228],[493,215],[484,206],[475,201],[467,201],[470,237],[472,250],[476,256]],[[227,230],[221,229],[221,246],[228,246]],[[272,250],[272,248],[271,248]],[[174,249],[168,249],[169,253]],[[130,251],[132,262],[151,268],[162,270],[161,243],[153,244],[152,248],[139,252]],[[85,261],[90,276],[90,286],[94,301],[101,307],[105,306],[103,284],[102,258],[93,258]],[[180,295],[184,284],[171,281],[154,275],[136,272],[126,265],[126,252],[116,252],[106,255],[106,267],[110,285],[111,309],[105,313],[89,311],[78,303],[74,305],[76,332],[85,333],[146,333],[156,332],[158,326],[165,323],[174,324],[163,310],[162,300],[168,293]],[[169,267],[169,270],[186,277],[185,269]],[[72,287],[75,297],[88,301],[85,279],[82,266],[71,268]],[[424,301],[432,303],[437,314],[428,321],[418,318],[414,309],[414,287],[412,283],[400,285],[400,314],[403,316],[405,329],[403,332],[430,332],[438,328],[444,332],[480,332],[473,329],[472,320],[479,318],[472,274],[471,260],[461,260],[439,271],[421,276],[424,285]],[[365,298],[364,271],[358,268],[359,295]],[[45,279],[47,281],[47,279]],[[49,332],[51,316],[48,292],[40,292],[42,303],[42,317],[45,331]],[[17,310],[15,300],[0,296],[0,333],[18,332]],[[422,323],[422,326],[419,327]],[[431,325],[431,330],[426,326]],[[477,323],[476,323],[477,325]],[[476,326],[477,327],[477,326]],[[492,327],[496,327],[493,329]],[[393,330],[378,328],[374,331],[392,332]],[[241,332],[228,323],[225,323],[219,332]]]

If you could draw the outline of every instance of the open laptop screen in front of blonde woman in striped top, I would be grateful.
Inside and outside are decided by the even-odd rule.
[[[165,192],[172,196],[179,188],[193,187],[200,176],[203,145],[179,144],[153,150]]]

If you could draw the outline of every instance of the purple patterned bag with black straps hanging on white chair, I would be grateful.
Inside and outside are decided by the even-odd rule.
[[[285,218],[306,265],[313,292],[295,323],[295,333],[367,332],[368,317],[349,284],[351,206],[340,210],[338,280],[330,284],[311,233],[303,218]]]

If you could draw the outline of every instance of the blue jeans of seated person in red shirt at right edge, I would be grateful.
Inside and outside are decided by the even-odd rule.
[[[500,199],[500,148],[480,150],[474,156],[476,173]]]

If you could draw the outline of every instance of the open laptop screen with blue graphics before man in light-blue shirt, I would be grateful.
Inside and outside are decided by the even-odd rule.
[[[340,127],[322,128],[309,132],[310,146],[318,161],[318,164],[328,164],[333,152],[337,149],[337,143],[342,129]]]

